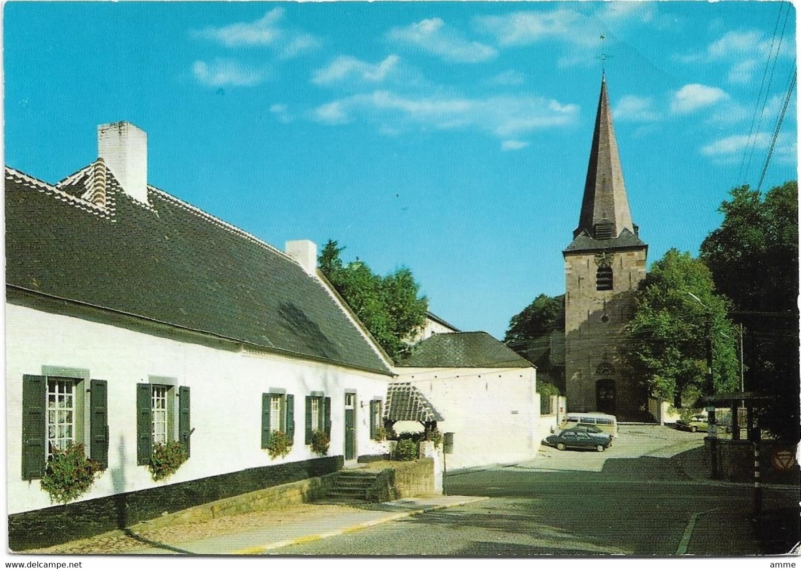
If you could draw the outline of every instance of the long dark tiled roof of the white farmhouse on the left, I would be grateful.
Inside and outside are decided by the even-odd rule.
[[[6,284],[183,329],[390,375],[319,280],[276,248],[108,172],[107,208],[83,200],[92,166],[58,188],[6,168]]]

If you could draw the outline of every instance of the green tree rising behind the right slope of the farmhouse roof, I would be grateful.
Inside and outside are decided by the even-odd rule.
[[[344,298],[389,357],[398,361],[409,353],[404,339],[425,324],[429,301],[419,296],[420,285],[408,268],[387,276],[374,274],[363,261],[344,264],[335,240],[328,240],[317,257],[320,271]]]

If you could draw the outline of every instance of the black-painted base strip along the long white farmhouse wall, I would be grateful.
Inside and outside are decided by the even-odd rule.
[[[303,489],[303,483],[308,482],[308,478],[335,473],[342,465],[341,455],[313,458],[21,512],[8,517],[9,547],[12,551],[49,547],[131,527],[146,520],[161,519],[202,504],[211,507],[211,502],[224,502],[219,506],[217,511],[220,513],[217,515],[227,515],[221,512],[235,513],[236,510],[231,508],[239,507],[234,504],[240,494],[256,493],[256,490],[275,490],[278,493],[273,494],[276,498],[294,499],[292,496],[296,492],[302,495],[304,491],[317,491],[313,483]],[[301,485],[292,490],[277,488],[288,482],[301,482]],[[235,498],[228,502],[226,498],[231,497]],[[254,498],[254,502],[259,500],[258,497]]]

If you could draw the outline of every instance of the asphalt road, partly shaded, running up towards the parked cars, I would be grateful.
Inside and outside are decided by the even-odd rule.
[[[702,434],[623,426],[604,453],[543,449],[530,462],[446,477],[448,494],[489,499],[385,523],[279,555],[754,555],[748,486],[691,480],[677,455]],[[797,492],[766,491],[767,502]]]

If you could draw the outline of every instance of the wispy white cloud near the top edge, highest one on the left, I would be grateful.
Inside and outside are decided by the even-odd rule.
[[[221,27],[208,26],[203,30],[192,30],[191,35],[227,47],[269,46],[286,58],[320,46],[320,40],[312,34],[280,26],[284,13],[284,8],[273,8],[255,22],[236,22]]]

